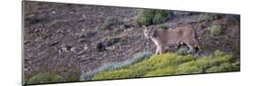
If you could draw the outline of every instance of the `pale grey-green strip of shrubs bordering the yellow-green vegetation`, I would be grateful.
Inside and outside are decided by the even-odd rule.
[[[148,59],[151,56],[152,53],[150,52],[140,52],[133,55],[133,57],[127,61],[124,62],[113,62],[113,63],[107,63],[103,66],[97,68],[94,71],[91,72],[82,72],[80,76],[80,81],[88,81],[91,80],[94,75],[96,75],[99,72],[106,72],[109,70],[118,70],[122,67],[129,66],[135,62],[139,62],[145,59]]]

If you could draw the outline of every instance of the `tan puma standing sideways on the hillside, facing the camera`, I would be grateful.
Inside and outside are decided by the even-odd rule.
[[[163,53],[165,46],[175,43],[186,43],[189,46],[189,53],[193,52],[195,47],[200,48],[198,34],[190,25],[167,30],[154,28],[153,31],[145,25],[143,28],[145,36],[157,45],[156,54]]]

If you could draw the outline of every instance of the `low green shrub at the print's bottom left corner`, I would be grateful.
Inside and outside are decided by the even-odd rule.
[[[51,73],[40,73],[33,76],[27,81],[27,84],[37,84],[37,83],[48,83],[48,82],[63,82],[65,81],[63,77],[51,74]]]

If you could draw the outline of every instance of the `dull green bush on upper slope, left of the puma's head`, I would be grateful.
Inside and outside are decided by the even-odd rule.
[[[105,22],[101,25],[102,29],[112,30],[113,28],[117,28],[119,24],[123,24],[118,18],[110,17],[105,20]]]

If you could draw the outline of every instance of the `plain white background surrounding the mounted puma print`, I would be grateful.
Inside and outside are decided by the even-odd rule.
[[[40,1],[40,0],[37,0]],[[253,0],[44,0],[89,5],[117,5],[199,12],[241,14],[241,72],[170,76],[116,81],[89,81],[49,86],[256,86],[255,3]],[[21,1],[0,5],[0,84],[21,85]]]

